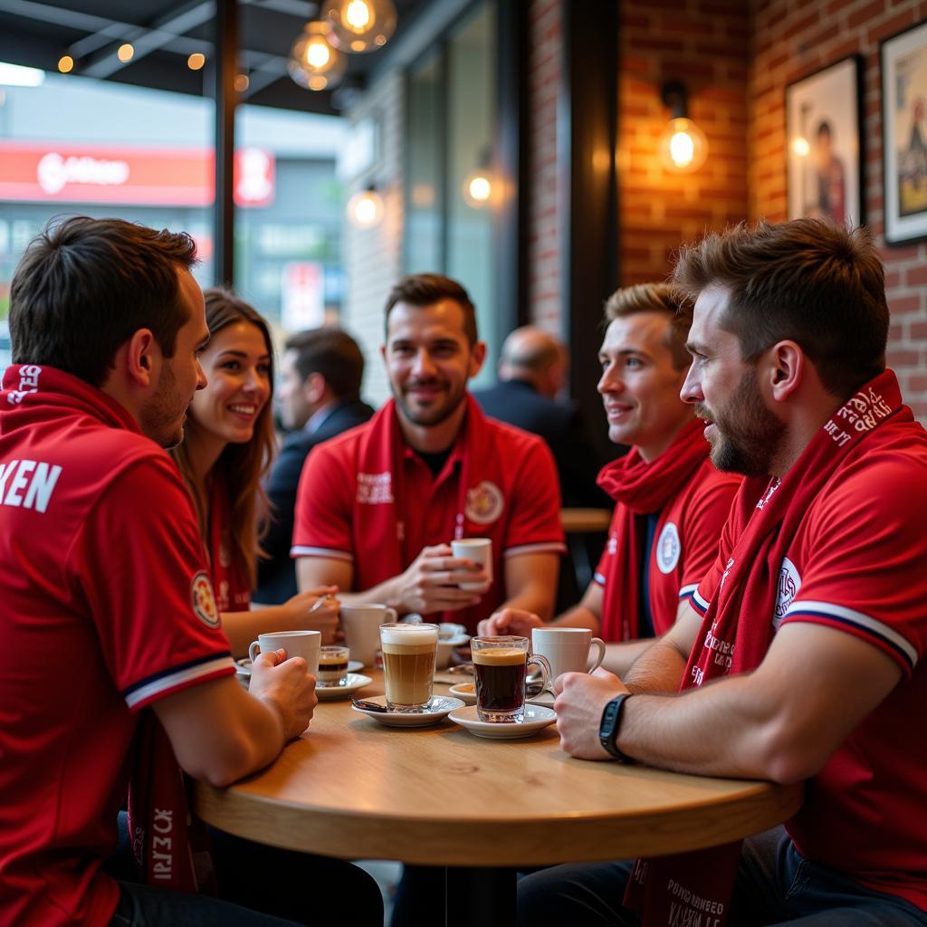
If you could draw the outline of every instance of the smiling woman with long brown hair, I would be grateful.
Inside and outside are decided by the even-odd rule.
[[[338,606],[325,597],[335,587],[249,610],[258,526],[267,521],[261,479],[274,451],[273,348],[267,323],[247,302],[220,287],[203,296],[210,341],[200,363],[209,384],[194,396],[184,441],[171,454],[193,497],[222,627],[235,656],[263,631],[317,629],[330,642]]]

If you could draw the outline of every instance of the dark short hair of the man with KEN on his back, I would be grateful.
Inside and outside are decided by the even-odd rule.
[[[87,216],[49,223],[13,274],[13,362],[47,364],[99,387],[140,328],[172,357],[187,322],[177,271],[196,255],[185,232]]]

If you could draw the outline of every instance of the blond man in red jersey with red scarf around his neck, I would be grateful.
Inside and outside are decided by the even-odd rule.
[[[741,481],[711,464],[703,428],[679,399],[691,360],[692,303],[666,284],[628,286],[605,303],[605,319],[599,392],[608,437],[633,447],[599,476],[617,503],[608,542],[582,600],[552,625],[622,641],[608,645],[605,666],[623,674],[672,628],[715,562]],[[482,630],[530,635],[542,624],[505,609]]]

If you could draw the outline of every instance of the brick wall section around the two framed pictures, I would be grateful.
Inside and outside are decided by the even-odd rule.
[[[858,54],[863,59],[866,164],[864,192],[870,230],[885,262],[892,311],[889,364],[905,399],[927,421],[927,245],[886,248],[883,239],[882,111],[879,43],[921,19],[925,0],[754,0],[755,57],[750,81],[750,211],[786,218],[785,85]]]

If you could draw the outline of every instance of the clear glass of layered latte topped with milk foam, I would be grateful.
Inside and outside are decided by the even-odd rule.
[[[383,679],[390,711],[420,712],[431,701],[438,625],[380,626]]]

